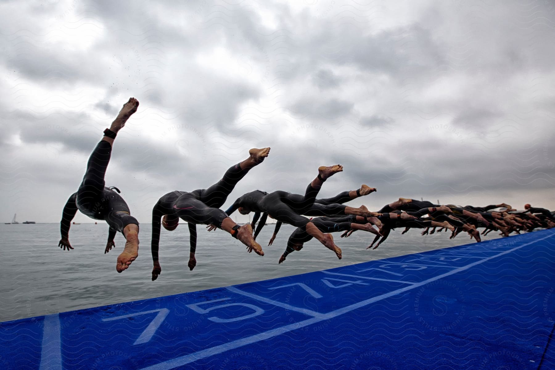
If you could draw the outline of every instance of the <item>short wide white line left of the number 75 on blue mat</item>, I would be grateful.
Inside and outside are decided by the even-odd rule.
[[[44,316],[41,365],[39,370],[62,370],[59,313]]]

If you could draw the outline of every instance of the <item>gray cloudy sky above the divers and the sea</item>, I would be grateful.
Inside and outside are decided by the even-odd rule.
[[[58,222],[131,96],[106,184],[140,222],[264,146],[226,206],[339,163],[320,194],[368,184],[373,210],[555,209],[554,21],[551,0],[2,1],[0,220]]]

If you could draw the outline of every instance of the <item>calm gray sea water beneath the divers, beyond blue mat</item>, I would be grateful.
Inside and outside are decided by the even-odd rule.
[[[411,229],[401,235],[403,229],[396,229],[378,249],[367,250],[374,235],[357,231],[340,238],[341,233],[335,233],[342,260],[311,240],[278,265],[294,229],[283,225],[273,245],[268,246],[274,225],[264,227],[258,237],[265,252],[261,257],[249,254],[243,244],[224,231],[208,232],[198,225],[197,265],[193,271],[187,267],[187,225],[179,225],[174,231],[162,229],[162,274],[151,281],[150,224],[140,225],[139,257],[122,273],[115,271],[115,261],[125,239],[118,234],[115,250],[104,254],[107,224],[72,225],[69,241],[74,249],[70,251],[58,247],[59,224],[0,224],[0,321],[296,275],[473,242],[466,233],[450,240],[451,232],[421,236],[421,230]],[[491,232],[482,239],[497,237]]]

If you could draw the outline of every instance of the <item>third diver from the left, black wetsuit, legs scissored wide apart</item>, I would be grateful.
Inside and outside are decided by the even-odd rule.
[[[266,212],[278,221],[302,227],[309,235],[315,237],[328,249],[334,251],[338,259],[341,259],[341,249],[334,244],[334,238],[331,234],[323,234],[314,223],[300,215],[304,214],[314,204],[316,195],[320,191],[320,187],[324,181],[342,170],[343,167],[341,165],[329,167],[321,166],[318,169],[317,178],[312,180],[309,186],[306,187],[304,196],[300,194],[291,194],[287,191],[274,191],[271,193],[260,190],[251,191],[239,197],[234,204],[226,210],[226,214],[231,215],[235,210],[239,210],[243,215],[251,211]]]

